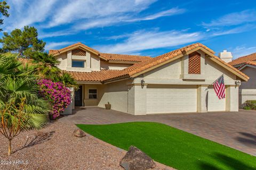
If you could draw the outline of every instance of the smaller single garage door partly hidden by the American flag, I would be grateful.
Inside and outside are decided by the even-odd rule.
[[[226,99],[219,99],[218,96],[216,96],[214,89],[211,87],[208,89],[208,112],[214,112],[214,111],[226,111]]]

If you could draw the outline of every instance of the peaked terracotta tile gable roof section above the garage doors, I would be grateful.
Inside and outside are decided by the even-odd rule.
[[[235,67],[222,61],[219,57],[215,56],[213,50],[204,46],[203,44],[196,43],[127,67],[126,69],[121,70],[119,74],[113,75],[113,77],[109,78],[108,81],[118,79],[118,77],[123,77],[124,75],[127,75],[129,77],[137,77],[138,75],[153,70],[158,66],[174,61],[189,53],[193,53],[198,49],[201,49],[203,50],[204,53],[209,54],[214,62],[218,63],[219,65],[222,65],[227,70],[233,72],[239,78],[245,81],[249,79],[247,75],[235,69]]]

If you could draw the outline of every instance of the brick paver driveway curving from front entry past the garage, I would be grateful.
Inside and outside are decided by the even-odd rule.
[[[59,121],[74,124],[160,122],[256,156],[256,111],[134,116],[100,107],[81,107]]]

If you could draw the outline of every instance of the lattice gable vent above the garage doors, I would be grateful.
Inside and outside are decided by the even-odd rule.
[[[188,55],[188,74],[201,74],[201,55],[197,52]]]

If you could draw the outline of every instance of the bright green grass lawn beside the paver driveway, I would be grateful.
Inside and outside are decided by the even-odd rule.
[[[256,169],[254,156],[161,123],[77,126],[119,148],[136,146],[157,162],[181,170]]]

